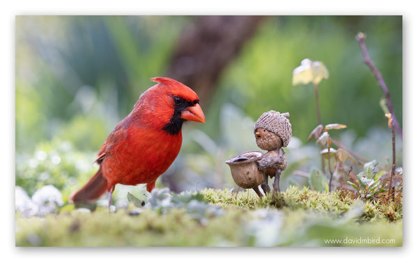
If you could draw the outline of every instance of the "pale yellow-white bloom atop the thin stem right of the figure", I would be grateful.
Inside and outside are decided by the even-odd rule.
[[[300,63],[299,67],[293,70],[293,85],[307,83],[314,83],[318,85],[322,79],[327,79],[329,76],[327,67],[320,61],[311,61],[309,58],[305,58]]]

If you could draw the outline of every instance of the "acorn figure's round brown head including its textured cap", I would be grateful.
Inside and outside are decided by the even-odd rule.
[[[289,113],[274,110],[263,113],[254,124],[254,135],[258,147],[272,150],[287,147],[292,136],[292,125],[288,120]]]

